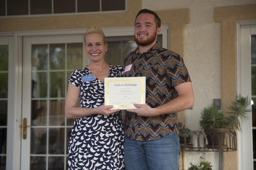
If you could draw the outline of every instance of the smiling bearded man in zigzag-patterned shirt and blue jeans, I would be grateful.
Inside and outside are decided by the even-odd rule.
[[[194,93],[181,56],[157,42],[161,20],[149,9],[136,16],[138,47],[127,55],[124,76],[146,77],[146,104],[134,104],[125,116],[126,170],[178,169],[177,112],[194,105]]]

